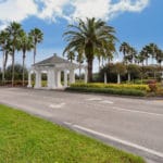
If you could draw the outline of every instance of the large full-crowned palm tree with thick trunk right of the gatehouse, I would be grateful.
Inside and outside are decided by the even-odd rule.
[[[116,40],[114,34],[114,28],[101,20],[95,17],[86,18],[86,21],[79,20],[76,25],[70,25],[68,30],[63,35],[68,42],[63,53],[82,49],[88,63],[88,82],[92,82],[93,59],[97,52],[103,49],[103,45]]]

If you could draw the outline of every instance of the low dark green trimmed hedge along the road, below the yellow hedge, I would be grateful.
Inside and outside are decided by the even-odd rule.
[[[66,90],[80,91],[80,92],[98,92],[98,93],[110,93],[110,95],[137,96],[137,97],[146,96],[146,91],[137,90],[137,89],[68,87],[66,88]]]

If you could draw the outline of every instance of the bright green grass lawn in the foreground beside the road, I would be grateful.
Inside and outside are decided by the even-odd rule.
[[[0,163],[145,163],[133,154],[0,104]]]

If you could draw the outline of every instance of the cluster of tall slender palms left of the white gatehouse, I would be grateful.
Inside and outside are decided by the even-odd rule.
[[[23,85],[25,74],[25,59],[26,52],[34,50],[34,64],[37,53],[37,45],[43,40],[43,34],[39,28],[34,28],[26,33],[22,25],[12,22],[10,25],[0,32],[0,47],[3,54],[2,63],[2,82],[5,80],[5,68],[9,57],[12,58],[12,86],[14,85],[15,76],[15,53],[22,52],[22,66],[23,66]]]

